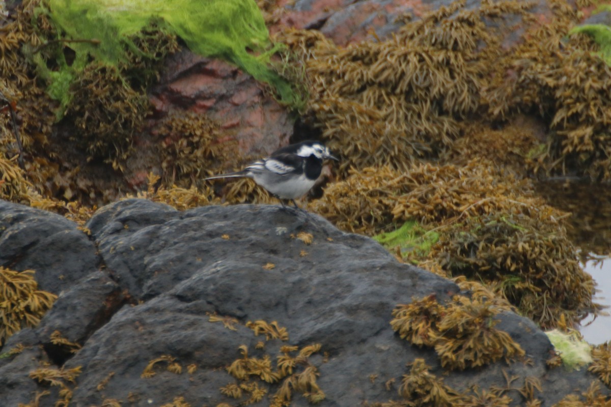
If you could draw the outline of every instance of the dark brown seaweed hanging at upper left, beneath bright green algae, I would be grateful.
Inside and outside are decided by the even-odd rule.
[[[178,43],[175,35],[150,21],[129,37],[130,46],[123,43],[122,63],[103,65],[84,53],[86,63],[81,65],[75,48],[83,38],[57,38],[58,26],[51,23],[47,6],[39,0],[24,1],[0,27],[5,34],[0,41],[0,72],[6,80],[2,93],[9,95],[17,113],[27,181],[44,198],[93,200],[106,191],[100,193],[99,182],[90,179],[99,176],[92,168],[101,160],[123,167],[131,138],[148,109],[145,86],[155,80],[159,63]],[[89,45],[95,48],[99,41]],[[4,115],[1,120],[9,124]],[[79,134],[68,130],[70,126]],[[15,141],[5,134],[10,126],[0,128],[2,157],[13,157]],[[84,159],[76,162],[82,155],[94,161],[91,167]]]

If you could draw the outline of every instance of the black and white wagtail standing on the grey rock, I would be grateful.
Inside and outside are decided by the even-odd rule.
[[[282,147],[267,158],[258,160],[236,173],[214,175],[204,181],[218,178],[254,179],[257,184],[282,200],[291,200],[298,208],[296,198],[305,195],[320,176],[325,159],[338,160],[329,148],[320,142],[305,141]]]

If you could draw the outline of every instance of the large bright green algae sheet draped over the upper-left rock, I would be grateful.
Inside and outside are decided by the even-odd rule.
[[[64,105],[76,73],[92,57],[115,67],[127,62],[128,51],[141,52],[133,36],[152,21],[162,31],[178,35],[191,51],[227,60],[271,84],[283,103],[298,99],[290,84],[269,68],[269,59],[280,46],[269,40],[253,0],[48,0],[46,5],[48,9],[40,11],[48,13],[60,39],[75,51],[75,60],[68,64],[57,56],[59,69],[48,71],[40,56],[32,57],[46,71],[49,94]]]

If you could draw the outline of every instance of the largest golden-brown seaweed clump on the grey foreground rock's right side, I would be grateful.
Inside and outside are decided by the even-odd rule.
[[[433,347],[443,367],[464,370],[524,356],[509,334],[494,328],[494,317],[506,309],[494,298],[456,295],[444,306],[430,296],[397,306],[390,325],[412,344]]]

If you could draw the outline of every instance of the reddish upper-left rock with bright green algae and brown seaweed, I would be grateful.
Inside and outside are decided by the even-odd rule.
[[[288,95],[285,99],[295,95],[269,66],[265,51],[272,45],[263,18],[251,1],[233,0],[235,7],[224,7],[227,3],[173,7],[159,2],[167,13],[154,18],[147,7],[115,13],[104,2],[14,5],[0,23],[0,73],[7,79],[0,93],[2,103],[16,112],[23,151],[10,117],[2,115],[2,198],[38,200],[37,192],[43,199],[92,206],[145,188],[151,171],[167,171],[167,186],[176,179],[188,188],[185,179],[192,180],[194,166],[211,171],[218,162],[208,161],[209,155],[194,146],[198,137],[176,138],[181,126],[167,126],[176,112],[183,116],[183,128],[216,123],[199,135],[232,157],[223,163],[226,170],[250,154],[260,156],[287,143],[292,120],[271,88],[287,90],[279,92]],[[184,13],[183,6],[197,13]],[[207,13],[219,24],[185,21]],[[236,15],[245,20],[232,26]],[[260,51],[258,57],[246,47]],[[274,81],[279,87],[266,85]],[[159,148],[170,154],[160,155]],[[23,182],[12,164],[17,156],[25,163]],[[177,168],[178,174],[172,173]]]

